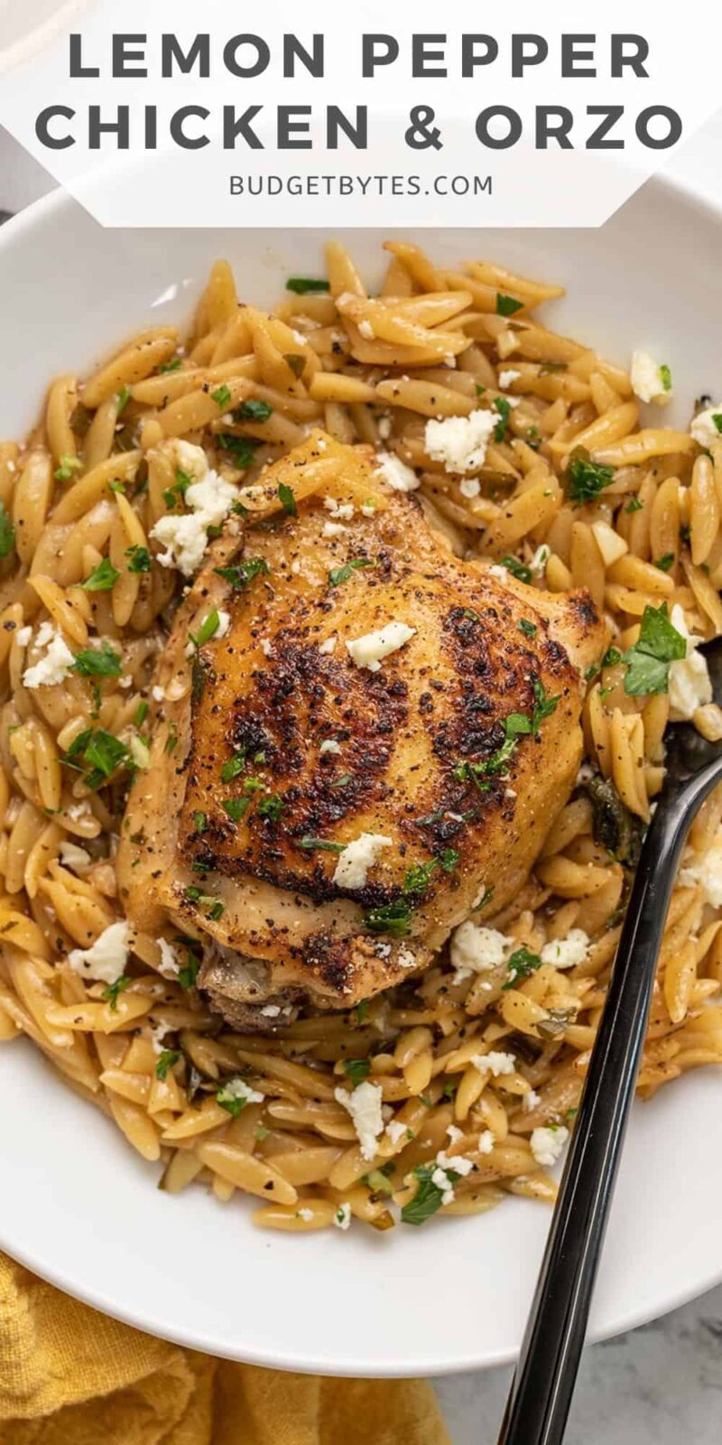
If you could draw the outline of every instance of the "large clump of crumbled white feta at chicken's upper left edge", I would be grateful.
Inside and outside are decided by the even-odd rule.
[[[159,517],[150,536],[166,549],[157,555],[162,566],[178,566],[185,577],[192,577],[208,546],[208,527],[225,520],[238,490],[209,468],[202,447],[173,441],[170,448],[176,465],[193,477],[183,497],[191,510]]]

